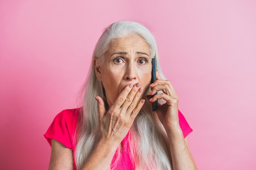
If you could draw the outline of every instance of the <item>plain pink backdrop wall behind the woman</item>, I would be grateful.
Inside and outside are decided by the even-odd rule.
[[[76,107],[94,46],[118,20],[154,33],[198,168],[255,170],[255,0],[1,0],[1,169],[47,169],[43,134]]]

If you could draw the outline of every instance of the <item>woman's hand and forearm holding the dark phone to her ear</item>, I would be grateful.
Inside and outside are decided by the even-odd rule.
[[[193,169],[197,170],[195,161],[190,153],[188,144],[184,139],[182,130],[180,129],[178,116],[178,101],[179,98],[173,89],[170,81],[162,80],[156,71],[156,81],[149,86],[152,90],[149,95],[154,95],[157,91],[163,91],[162,94],[156,94],[152,98],[148,98],[150,102],[155,102],[157,99],[166,101],[163,105],[157,103],[156,113],[164,125],[164,129],[168,135],[169,146],[171,152],[171,163],[173,169]]]

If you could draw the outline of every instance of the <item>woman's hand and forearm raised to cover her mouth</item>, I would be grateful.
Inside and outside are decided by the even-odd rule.
[[[81,170],[109,169],[117,147],[127,135],[134,119],[144,105],[145,100],[140,100],[143,89],[139,86],[140,83],[127,85],[108,112],[105,110],[102,98],[95,97],[98,102],[101,138]]]

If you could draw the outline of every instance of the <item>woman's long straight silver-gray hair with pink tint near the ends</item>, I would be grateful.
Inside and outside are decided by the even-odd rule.
[[[155,39],[145,26],[137,22],[119,21],[106,28],[95,46],[92,62],[95,58],[98,58],[100,62],[103,61],[105,53],[113,40],[132,35],[139,35],[147,42],[150,48],[151,58],[155,58],[156,69],[164,79],[164,75],[159,67]],[[149,91],[150,87],[146,89],[145,95],[148,94]],[[97,101],[94,98],[95,96],[103,98],[105,105],[107,105],[103,85],[97,78],[94,67],[92,66],[85,84],[83,107],[80,111],[80,117],[76,127],[75,162],[78,170],[81,169],[85,160],[92,153],[100,137],[99,114]],[[144,98],[146,98],[146,96],[144,96]],[[128,153],[133,166],[137,170],[171,170],[170,152],[168,146],[166,146],[168,139],[163,126],[155,113],[151,110],[151,105],[148,100],[146,100],[130,129],[128,135],[128,144],[130,145],[128,148],[130,149]],[[110,169],[115,168],[120,158],[121,151],[119,148],[117,148],[117,151],[117,159],[109,167]]]

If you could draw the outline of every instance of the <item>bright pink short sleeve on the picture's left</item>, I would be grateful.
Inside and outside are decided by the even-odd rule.
[[[52,146],[52,139],[55,139],[67,148],[73,148],[77,116],[78,109],[63,110],[56,115],[44,134],[50,146]]]

